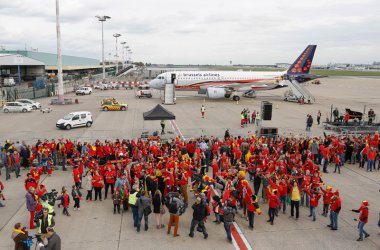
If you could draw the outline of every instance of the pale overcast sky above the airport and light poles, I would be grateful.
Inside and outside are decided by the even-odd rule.
[[[314,64],[380,61],[379,0],[61,0],[62,53],[172,64],[291,63],[317,44]],[[54,0],[0,0],[0,45],[56,53]],[[120,56],[121,58],[121,56]]]

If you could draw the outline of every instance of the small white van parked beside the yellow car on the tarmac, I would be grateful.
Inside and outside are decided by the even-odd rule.
[[[57,121],[56,127],[70,130],[76,127],[91,127],[92,115],[89,111],[78,111],[67,114],[63,119]]]

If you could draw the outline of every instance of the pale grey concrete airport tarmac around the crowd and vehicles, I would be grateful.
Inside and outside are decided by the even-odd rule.
[[[251,135],[257,129],[250,125],[240,128],[240,111],[249,108],[259,110],[261,101],[273,103],[272,121],[264,121],[263,126],[278,127],[283,135],[314,136],[323,134],[323,126],[316,125],[315,115],[322,112],[322,120],[330,116],[331,105],[340,110],[351,108],[363,111],[373,108],[380,111],[380,80],[371,78],[325,78],[321,85],[309,85],[310,92],[315,96],[316,103],[300,105],[282,101],[284,90],[259,92],[256,99],[242,98],[236,102],[222,99],[210,100],[197,96],[195,92],[177,92],[177,104],[165,106],[176,115],[175,126],[172,128],[167,122],[166,137],[175,137],[178,131],[186,139],[199,135],[223,136],[225,129],[230,129],[234,135]],[[34,143],[37,139],[72,138],[81,141],[100,139],[136,138],[143,131],[150,133],[160,130],[160,121],[143,121],[142,113],[161,103],[159,92],[154,93],[152,99],[137,99],[133,90],[96,90],[92,95],[68,95],[78,99],[79,104],[67,106],[49,106],[49,98],[40,99],[44,107],[52,107],[53,112],[43,114],[33,111],[26,114],[0,113],[0,140],[10,138],[14,141],[24,140]],[[128,110],[104,112],[99,110],[103,98],[115,97],[120,102],[129,105]],[[201,118],[200,107],[206,107],[206,116]],[[91,128],[75,128],[70,131],[59,130],[55,123],[59,118],[72,111],[88,110],[92,112],[94,124]],[[306,115],[314,117],[311,132],[305,131]],[[331,171],[332,166],[330,166]],[[5,185],[4,195],[6,205],[0,208],[0,250],[13,249],[10,238],[13,225],[21,222],[28,225],[29,213],[25,207],[24,177],[16,179],[12,175],[10,181],[5,181],[4,171],[0,179]],[[324,182],[339,189],[342,198],[342,211],[339,214],[339,230],[331,231],[327,224],[329,219],[321,216],[322,205],[317,209],[317,221],[309,217],[308,208],[300,209],[300,219],[295,221],[289,218],[289,208],[286,214],[280,213],[275,218],[274,225],[266,222],[268,205],[260,200],[262,215],[255,216],[255,228],[248,229],[248,222],[236,217],[243,235],[253,249],[380,249],[380,229],[377,227],[379,219],[379,189],[380,172],[366,172],[357,165],[348,165],[342,168],[342,174],[329,173],[322,176]],[[62,186],[71,186],[71,172],[57,170],[51,177],[43,176],[43,183],[50,190],[60,190]],[[192,197],[192,195],[190,195]],[[351,209],[358,209],[361,201],[367,200],[369,206],[369,222],[366,230],[371,236],[363,242],[357,242],[358,214]],[[191,200],[190,204],[192,204]],[[113,214],[112,200],[108,198],[102,202],[81,202],[81,211],[69,210],[71,217],[57,212],[55,229],[62,239],[62,249],[234,249],[235,245],[227,242],[222,225],[216,225],[210,216],[206,223],[209,233],[208,239],[203,239],[201,233],[196,233],[192,239],[188,237],[192,217],[191,208],[180,217],[179,234],[174,238],[167,235],[166,229],[156,229],[154,216],[149,216],[150,228],[148,231],[136,233],[132,225],[132,215],[128,211],[122,215]],[[164,216],[164,223],[168,223],[168,215]],[[173,229],[172,229],[173,230]],[[36,233],[32,230],[32,234]]]

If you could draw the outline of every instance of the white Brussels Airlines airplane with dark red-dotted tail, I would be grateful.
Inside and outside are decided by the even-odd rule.
[[[289,81],[303,83],[318,78],[309,74],[317,45],[309,45],[287,71],[172,71],[159,74],[149,82],[152,89],[164,90],[174,83],[176,90],[198,90],[210,99],[256,97],[256,91],[287,87]],[[239,94],[243,93],[243,94]]]

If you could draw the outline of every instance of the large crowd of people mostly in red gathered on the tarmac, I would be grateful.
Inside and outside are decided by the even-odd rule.
[[[260,215],[263,207],[268,208],[267,222],[274,225],[275,218],[281,211],[286,214],[289,207],[291,218],[298,220],[303,206],[316,221],[320,203],[322,216],[329,217],[328,227],[338,230],[342,200],[334,183],[324,182],[323,173],[329,172],[330,165],[340,173],[345,164],[356,162],[367,171],[380,170],[378,133],[297,139],[233,137],[226,131],[224,138],[200,137],[186,142],[180,138],[93,143],[52,139],[34,145],[7,140],[1,159],[6,180],[13,178],[13,172],[19,178],[20,168],[28,171],[24,186],[29,228],[37,227],[44,235],[50,232],[55,240],[55,203],[58,201],[62,213],[70,216],[71,208],[80,210],[84,200],[81,190],[86,191],[87,202],[107,199],[114,214],[131,210],[136,232],[140,232],[142,219],[144,230],[149,229],[151,214],[156,229],[165,228],[163,217],[169,214],[167,233],[174,226],[177,237],[181,215],[192,209],[189,237],[194,237],[197,227],[207,239],[204,222],[213,217],[216,224],[223,223],[232,242],[231,226],[237,213],[253,230],[255,214]],[[54,175],[56,170],[70,170],[72,182],[55,187],[60,192],[48,191],[41,176]],[[6,183],[1,190],[3,195]],[[189,204],[189,193],[195,197],[194,204]],[[359,209],[352,210],[360,213],[358,241],[369,236],[364,229],[368,205],[362,201]],[[14,234],[22,232],[27,233],[16,224]]]

